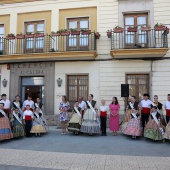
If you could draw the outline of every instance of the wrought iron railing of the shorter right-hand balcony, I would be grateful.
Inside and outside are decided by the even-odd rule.
[[[168,48],[169,29],[163,31],[111,31],[111,50],[133,48]]]

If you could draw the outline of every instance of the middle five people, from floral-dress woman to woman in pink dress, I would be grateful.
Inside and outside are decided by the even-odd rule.
[[[83,101],[83,97],[79,97],[75,102],[71,118],[69,119],[70,104],[66,99],[66,96],[62,96],[62,102],[59,106],[60,110],[60,122],[61,122],[61,134],[66,134],[66,129],[79,134],[80,132],[87,133],[90,136],[93,134],[101,134],[107,136],[107,116],[110,111],[110,130],[113,131],[113,135],[117,135],[119,130],[119,110],[120,105],[117,97],[113,97],[112,103],[106,106],[106,102],[103,99],[101,106],[99,107],[100,114],[98,114],[97,102],[93,100],[93,95],[88,96],[88,100]],[[68,124],[68,126],[67,126]]]

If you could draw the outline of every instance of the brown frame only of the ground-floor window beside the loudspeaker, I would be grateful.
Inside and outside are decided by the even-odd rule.
[[[140,92],[140,89],[139,89],[139,80],[142,78],[142,76],[146,76],[145,80],[146,80],[146,88],[147,89],[146,91],[144,91],[143,93],[149,93],[150,92],[150,74],[149,73],[140,73],[140,74],[126,74],[126,83],[128,84],[128,76],[131,76],[131,77],[137,77],[136,79],[134,78],[135,80],[135,84],[129,84],[129,96],[136,96],[136,101],[140,101],[142,100],[142,97],[140,99],[140,96],[139,96],[139,92]],[[131,88],[131,85],[134,85],[135,86],[135,94],[130,94],[130,88]],[[143,94],[141,94],[143,95]]]

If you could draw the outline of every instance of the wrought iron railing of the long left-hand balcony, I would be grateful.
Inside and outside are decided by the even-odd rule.
[[[0,37],[0,55],[91,50],[96,50],[94,32],[87,35]]]

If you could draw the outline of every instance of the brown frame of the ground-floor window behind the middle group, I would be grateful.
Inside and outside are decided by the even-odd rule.
[[[82,78],[82,77],[84,77],[85,79],[84,79],[84,81],[87,81],[87,82],[85,82],[85,84],[84,85],[81,85],[81,84],[71,84],[70,83],[70,81],[69,81],[69,78],[70,77],[75,77],[75,80],[77,80],[77,82],[78,82],[78,80],[81,80],[80,79],[80,77]],[[74,79],[73,79],[74,80]],[[76,87],[75,88],[75,90],[76,90],[76,94],[77,94],[77,96],[71,96],[71,94],[70,94],[70,90],[69,90],[69,87]],[[86,88],[87,87],[87,90],[85,89],[85,91],[84,91],[84,96],[82,96],[83,97],[83,100],[87,100],[88,99],[88,94],[89,94],[89,75],[88,74],[73,74],[73,75],[67,75],[67,98],[68,98],[68,101],[70,102],[70,106],[73,108],[73,106],[74,106],[74,102],[76,101],[76,100],[78,100],[78,97],[79,96],[81,96],[81,94],[79,93],[80,92],[80,87],[84,87],[84,88]],[[73,97],[74,97],[74,99],[73,99]]]

